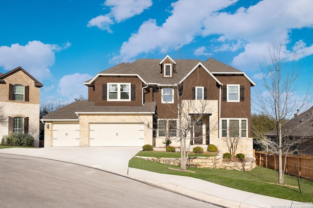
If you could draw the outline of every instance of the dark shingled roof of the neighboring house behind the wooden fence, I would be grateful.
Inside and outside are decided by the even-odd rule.
[[[295,115],[282,126],[283,136],[296,138],[313,138],[313,106],[300,115]],[[277,136],[277,130],[271,130],[266,134],[268,137]]]

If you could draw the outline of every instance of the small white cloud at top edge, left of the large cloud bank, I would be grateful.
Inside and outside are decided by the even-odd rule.
[[[104,5],[111,7],[111,12],[91,19],[87,26],[96,26],[112,33],[110,25],[141,14],[152,5],[152,0],[106,0]]]

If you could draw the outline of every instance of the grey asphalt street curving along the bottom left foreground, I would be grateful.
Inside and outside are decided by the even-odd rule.
[[[0,154],[3,208],[216,208],[102,170],[20,155]]]

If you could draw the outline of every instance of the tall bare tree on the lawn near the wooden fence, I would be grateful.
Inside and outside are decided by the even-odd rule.
[[[268,56],[263,57],[264,65],[260,63],[264,88],[257,88],[254,100],[255,110],[264,112],[276,125],[277,134],[274,140],[260,137],[257,142],[267,146],[272,153],[278,154],[279,184],[284,184],[283,152],[301,140],[290,141],[283,137],[282,126],[290,118],[295,109],[306,108],[309,96],[299,102],[295,96],[294,84],[299,77],[298,67],[295,65],[295,55],[290,59],[284,57],[282,42],[268,47]],[[269,61],[267,61],[269,60]],[[291,60],[291,61],[290,61]],[[309,89],[309,88],[308,88]],[[307,91],[308,95],[308,91]],[[287,147],[287,148],[286,148]]]

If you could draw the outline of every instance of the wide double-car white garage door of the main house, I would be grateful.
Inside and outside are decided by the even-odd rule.
[[[142,124],[90,124],[90,146],[143,146]]]

